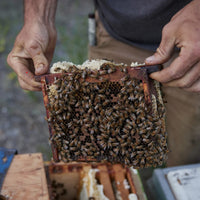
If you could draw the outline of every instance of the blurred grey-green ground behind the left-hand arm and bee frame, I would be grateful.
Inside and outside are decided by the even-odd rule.
[[[57,45],[52,63],[87,59],[87,16],[92,0],[59,0],[56,14]],[[23,0],[0,1],[0,147],[19,154],[41,152],[51,159],[49,131],[41,92],[19,87],[15,72],[6,63],[15,37],[23,26]]]

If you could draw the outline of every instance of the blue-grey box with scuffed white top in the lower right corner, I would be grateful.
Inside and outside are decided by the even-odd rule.
[[[199,199],[200,164],[155,169],[147,186],[151,199]]]

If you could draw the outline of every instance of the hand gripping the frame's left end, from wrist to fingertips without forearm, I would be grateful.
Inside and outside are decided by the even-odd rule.
[[[41,83],[36,82],[34,76],[48,71],[55,45],[54,25],[47,25],[40,20],[24,24],[7,57],[8,64],[17,73],[19,84],[24,90],[41,90]]]

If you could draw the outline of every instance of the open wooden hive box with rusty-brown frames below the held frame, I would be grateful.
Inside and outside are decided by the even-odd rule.
[[[146,199],[137,172],[119,164],[46,163],[46,173],[51,200]]]

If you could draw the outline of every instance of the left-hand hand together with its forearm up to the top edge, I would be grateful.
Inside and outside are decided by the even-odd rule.
[[[39,91],[35,75],[45,74],[56,44],[56,0],[25,0],[24,26],[16,37],[7,62],[17,73],[20,86]]]

